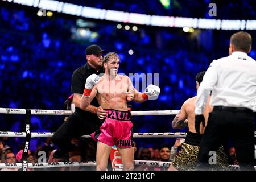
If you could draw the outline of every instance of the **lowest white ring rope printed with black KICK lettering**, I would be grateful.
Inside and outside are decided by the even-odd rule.
[[[156,161],[156,160],[134,160],[134,165],[148,165],[148,166],[163,166],[169,167],[172,162]],[[27,168],[53,168],[53,167],[80,167],[80,166],[96,166],[95,161],[88,162],[51,162],[51,163],[28,163]],[[238,165],[229,165],[230,168],[238,169]],[[10,164],[10,163],[0,163],[0,169],[8,168],[22,168],[22,163]],[[256,169],[256,166],[254,166]]]

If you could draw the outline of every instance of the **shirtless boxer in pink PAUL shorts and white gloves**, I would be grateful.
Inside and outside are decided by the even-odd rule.
[[[101,127],[94,136],[98,140],[96,154],[96,169],[106,170],[109,154],[115,144],[121,156],[123,170],[133,170],[134,149],[131,142],[130,112],[127,102],[144,102],[148,98],[158,98],[160,88],[156,85],[148,85],[144,93],[138,92],[129,77],[117,74],[119,68],[119,56],[110,52],[104,56],[102,65],[105,73],[102,77],[96,74],[86,79],[84,94],[80,101],[80,108],[86,109],[94,97],[97,98],[100,107],[108,111]],[[97,113],[97,110],[96,110]]]

